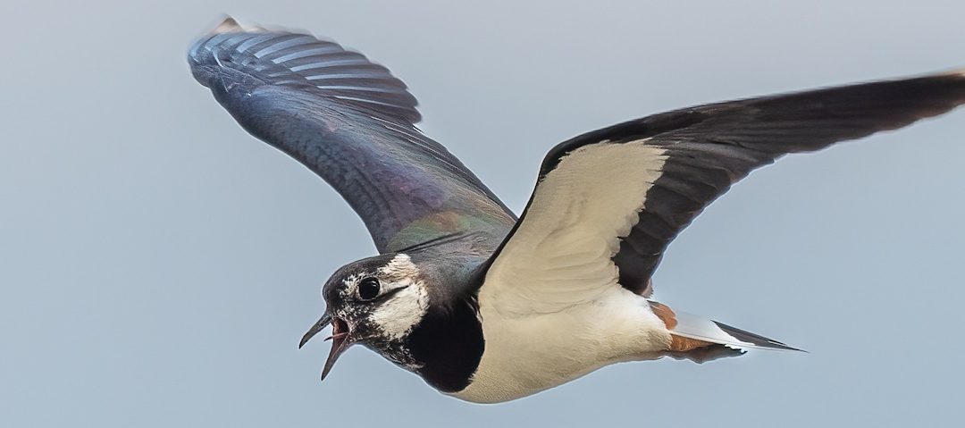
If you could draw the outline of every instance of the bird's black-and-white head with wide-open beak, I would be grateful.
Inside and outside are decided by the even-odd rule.
[[[326,310],[299,347],[332,326],[332,350],[321,379],[348,347],[359,343],[390,361],[417,368],[406,338],[426,316],[428,292],[419,268],[406,254],[382,254],[343,266],[321,289]]]

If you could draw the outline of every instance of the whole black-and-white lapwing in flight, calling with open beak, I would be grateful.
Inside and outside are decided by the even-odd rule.
[[[416,123],[387,68],[339,44],[226,19],[194,77],[249,133],[362,218],[378,255],[322,286],[335,361],[364,345],[457,398],[528,396],[620,361],[709,361],[777,340],[651,299],[668,244],[752,170],[946,113],[965,70],[706,104],[553,147],[517,218]]]

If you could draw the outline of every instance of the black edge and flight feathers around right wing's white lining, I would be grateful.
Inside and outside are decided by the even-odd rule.
[[[743,98],[688,107],[588,132],[546,154],[537,186],[579,147],[651,139],[667,148],[665,172],[647,195],[640,222],[620,237],[613,257],[620,284],[647,293],[667,246],[707,204],[752,170],[795,152],[894,130],[938,116],[965,102],[965,69],[920,77]],[[534,192],[535,193],[535,192]],[[529,210],[481,266],[480,283]]]

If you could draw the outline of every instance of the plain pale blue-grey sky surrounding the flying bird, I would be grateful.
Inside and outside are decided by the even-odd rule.
[[[231,13],[390,67],[511,208],[571,136],[688,105],[965,67],[958,1],[0,3],[0,425],[950,425],[962,416],[965,110],[751,174],[656,297],[810,354],[610,366],[467,404],[296,344],[374,254],[334,191],[198,85]]]

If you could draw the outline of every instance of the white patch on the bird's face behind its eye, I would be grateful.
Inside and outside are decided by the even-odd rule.
[[[400,339],[419,324],[428,310],[426,284],[407,254],[396,255],[378,269],[382,285],[380,294],[400,289],[385,302],[372,309],[369,321],[388,338]]]

